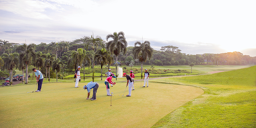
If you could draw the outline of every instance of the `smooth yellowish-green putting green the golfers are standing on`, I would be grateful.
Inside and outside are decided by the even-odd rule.
[[[42,92],[33,93],[35,84],[1,87],[0,127],[148,128],[204,93],[197,87],[150,82],[148,88],[140,88],[135,82],[132,97],[126,97],[128,86],[124,93],[126,84],[117,83],[110,87],[110,106],[105,84],[100,84],[95,101],[86,100],[83,85],[43,83]]]

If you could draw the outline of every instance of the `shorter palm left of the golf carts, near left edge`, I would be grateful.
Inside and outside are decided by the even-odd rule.
[[[19,65],[19,54],[18,53],[11,53],[11,54],[6,54],[4,53],[3,55],[3,60],[4,60],[4,67],[5,69],[9,70],[10,73],[10,84],[12,85],[12,71],[13,69]]]

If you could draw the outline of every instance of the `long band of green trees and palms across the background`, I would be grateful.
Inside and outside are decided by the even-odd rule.
[[[255,64],[256,57],[243,55],[241,52],[228,52],[220,54],[196,54],[190,55],[181,53],[181,50],[172,45],[163,46],[160,50],[154,50],[149,41],[136,41],[133,47],[127,47],[124,32],[108,34],[106,40],[100,36],[83,36],[73,41],[50,42],[49,44],[18,44],[0,40],[0,66],[1,70],[8,70],[10,80],[12,71],[15,69],[24,70],[28,74],[28,67],[33,66],[50,78],[56,77],[62,70],[62,74],[72,74],[73,69],[78,66],[93,69],[92,80],[94,81],[94,65],[102,67],[117,61],[122,65],[141,65],[141,76],[143,64],[168,66],[168,65],[247,65]],[[85,69],[84,69],[85,70]],[[55,74],[56,76],[53,76]],[[117,75],[117,70],[116,70]],[[28,83],[28,77],[25,77]],[[117,79],[117,78],[116,78]]]

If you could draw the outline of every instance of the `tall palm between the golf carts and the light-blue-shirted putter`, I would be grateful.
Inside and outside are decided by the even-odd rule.
[[[22,60],[20,63],[26,64],[26,81],[25,84],[28,84],[28,65],[32,63],[32,59],[35,58],[35,50],[36,50],[36,44],[25,44],[17,47],[17,51],[21,51],[20,53],[20,60]],[[24,77],[24,76],[23,76]]]

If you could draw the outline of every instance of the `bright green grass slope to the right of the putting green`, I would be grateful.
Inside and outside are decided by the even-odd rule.
[[[204,94],[159,120],[156,127],[256,127],[256,66],[204,76],[153,80],[197,86]]]

